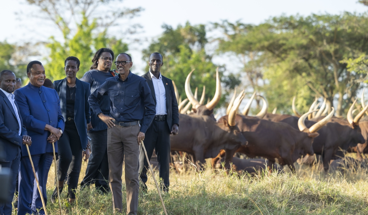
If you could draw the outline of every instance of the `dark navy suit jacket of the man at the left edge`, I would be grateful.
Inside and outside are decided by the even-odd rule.
[[[9,99],[5,96],[3,91],[0,90],[0,147],[2,147],[3,154],[0,156],[1,162],[10,162],[16,157],[21,156],[21,145],[23,144],[23,135],[27,135],[27,130],[23,125],[23,120],[17,106],[18,116],[21,121],[22,132],[19,133],[19,124],[14,112],[13,105],[11,105]]]

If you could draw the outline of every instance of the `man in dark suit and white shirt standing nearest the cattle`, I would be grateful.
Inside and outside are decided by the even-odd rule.
[[[159,162],[159,176],[163,180],[163,191],[169,191],[169,163],[170,163],[170,134],[177,135],[179,126],[179,110],[176,101],[173,82],[161,75],[160,70],[163,65],[162,55],[158,52],[152,53],[149,57],[149,72],[144,77],[151,89],[153,101],[156,105],[156,115],[145,136],[144,145],[148,158],[151,159],[153,149],[155,149]],[[143,149],[139,153],[139,163],[142,185],[147,189],[148,162]],[[142,166],[143,164],[143,166]],[[143,168],[143,169],[142,169]]]

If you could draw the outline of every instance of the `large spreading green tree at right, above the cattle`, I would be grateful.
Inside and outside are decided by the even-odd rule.
[[[242,26],[241,31],[231,31],[233,26]],[[276,80],[287,76],[291,85],[299,83],[299,87],[289,88],[286,94],[300,94],[299,90],[305,91],[304,85],[307,85],[315,96],[325,97],[331,104],[337,96],[337,116],[350,106],[366,77],[366,74],[350,72],[341,60],[355,53],[368,52],[367,14],[345,12],[340,15],[281,16],[259,25],[225,21],[221,27],[226,37],[219,38],[220,51],[257,53],[258,59],[262,59],[258,67],[273,69],[275,73],[271,74],[269,70],[268,78]],[[275,80],[266,82],[275,83]],[[273,86],[265,89],[268,89],[265,92],[268,97],[286,90]],[[275,91],[281,92],[275,94]],[[310,93],[304,95],[310,96]],[[304,99],[311,102],[310,98]],[[275,101],[270,107],[279,104],[277,98],[269,100]]]

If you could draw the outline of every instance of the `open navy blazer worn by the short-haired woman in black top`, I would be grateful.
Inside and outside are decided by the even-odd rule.
[[[82,149],[87,148],[87,124],[91,121],[91,112],[88,97],[91,94],[89,83],[75,80],[75,103],[74,103],[74,122],[77,127],[79,138],[81,139]],[[60,108],[64,121],[67,120],[67,78],[54,81],[54,87],[59,94]]]

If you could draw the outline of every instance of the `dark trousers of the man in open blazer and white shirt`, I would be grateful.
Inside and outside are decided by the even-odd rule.
[[[162,178],[164,191],[168,191],[170,185],[170,131],[168,128],[169,126],[166,121],[153,120],[151,126],[149,126],[145,133],[144,139],[144,146],[149,160],[151,160],[153,149],[155,149],[157,161],[159,162],[159,177]],[[140,177],[145,185],[149,166],[143,148],[139,152],[139,163],[144,164]]]

